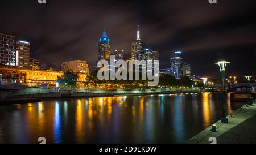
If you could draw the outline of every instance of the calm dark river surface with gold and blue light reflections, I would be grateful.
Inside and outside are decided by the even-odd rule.
[[[221,117],[221,94],[49,99],[0,106],[0,143],[183,143]],[[226,103],[228,113],[244,105]]]

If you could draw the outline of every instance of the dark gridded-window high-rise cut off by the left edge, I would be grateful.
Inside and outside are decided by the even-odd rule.
[[[15,36],[0,33],[0,63],[15,66]]]

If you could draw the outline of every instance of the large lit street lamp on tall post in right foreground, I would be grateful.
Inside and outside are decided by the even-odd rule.
[[[228,123],[228,118],[226,118],[226,107],[225,107],[225,71],[226,71],[226,64],[230,62],[226,61],[219,61],[215,64],[218,64],[220,67],[221,72],[221,89],[222,89],[222,118],[221,123]]]

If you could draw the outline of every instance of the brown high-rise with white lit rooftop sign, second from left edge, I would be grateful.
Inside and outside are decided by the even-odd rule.
[[[30,68],[30,42],[16,41],[16,66]]]

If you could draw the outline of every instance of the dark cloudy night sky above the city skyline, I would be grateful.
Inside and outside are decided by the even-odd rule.
[[[227,75],[256,76],[255,6],[255,0],[0,0],[0,32],[31,42],[31,57],[41,63],[83,59],[95,66],[103,28],[112,52],[125,50],[128,59],[139,24],[141,39],[159,51],[160,68],[182,51],[192,74],[218,77],[214,62],[226,59]]]

